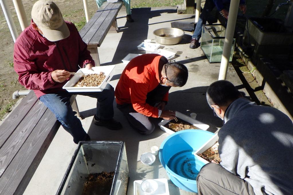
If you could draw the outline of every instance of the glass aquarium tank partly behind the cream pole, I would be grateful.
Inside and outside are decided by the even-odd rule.
[[[202,40],[200,47],[207,56],[209,63],[221,62],[225,42],[226,28],[221,24],[203,25]],[[229,61],[232,61],[235,46],[235,38],[232,42],[232,49]]]

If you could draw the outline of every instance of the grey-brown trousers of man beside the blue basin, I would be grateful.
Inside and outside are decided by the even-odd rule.
[[[248,182],[216,163],[204,165],[197,175],[196,182],[198,195],[255,195]]]

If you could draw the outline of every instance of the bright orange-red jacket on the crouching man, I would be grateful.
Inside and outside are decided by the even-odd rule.
[[[159,117],[159,109],[146,103],[147,93],[154,90],[159,82],[158,54],[144,54],[133,58],[123,70],[115,89],[116,103],[131,103],[138,113],[154,118]],[[168,101],[168,92],[162,101]]]

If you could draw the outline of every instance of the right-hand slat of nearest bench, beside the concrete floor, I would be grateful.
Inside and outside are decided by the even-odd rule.
[[[60,123],[47,109],[0,179],[0,194],[23,194]]]

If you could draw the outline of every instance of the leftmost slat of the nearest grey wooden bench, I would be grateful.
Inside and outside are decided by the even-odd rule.
[[[0,148],[37,101],[38,99],[35,93],[30,91],[29,94],[21,100],[19,105],[11,111],[9,117],[7,117],[0,126]]]

